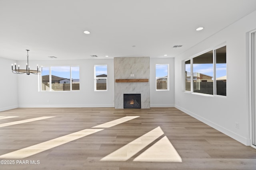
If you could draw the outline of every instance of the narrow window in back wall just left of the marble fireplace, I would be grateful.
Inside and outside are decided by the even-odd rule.
[[[94,65],[94,91],[107,90],[107,65]]]

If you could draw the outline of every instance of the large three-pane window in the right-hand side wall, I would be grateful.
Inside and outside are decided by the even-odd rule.
[[[185,61],[185,91],[226,96],[226,46]]]

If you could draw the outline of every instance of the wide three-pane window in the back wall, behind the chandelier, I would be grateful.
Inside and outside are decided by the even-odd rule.
[[[42,67],[42,91],[79,90],[78,66],[48,66]]]

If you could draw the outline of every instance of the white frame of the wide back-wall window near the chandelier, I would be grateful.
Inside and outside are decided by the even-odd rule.
[[[62,66],[41,66],[41,69],[43,69],[44,67],[48,67],[49,68],[49,90],[42,90],[42,75],[38,75],[39,76],[39,92],[76,92],[76,91],[80,91],[80,87],[79,90],[72,90],[72,67],[78,67],[79,68],[79,79],[80,79],[80,67],[78,65],[62,65]],[[52,67],[69,67],[70,69],[70,90],[52,90]],[[67,84],[67,83],[66,83]],[[79,80],[79,86],[80,86],[80,80]]]

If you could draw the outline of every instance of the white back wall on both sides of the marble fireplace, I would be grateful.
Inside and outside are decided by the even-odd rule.
[[[18,107],[114,107],[114,59],[29,61],[31,69],[42,66],[80,66],[80,91],[39,92],[38,75],[18,78]],[[10,62],[11,63],[11,62]],[[156,91],[155,64],[170,64],[170,91]],[[18,61],[21,67],[26,61]],[[108,91],[94,92],[94,65],[108,65]],[[10,66],[10,64],[4,64]],[[15,96],[14,95],[14,96]],[[17,105],[17,103],[16,103]],[[150,107],[174,106],[174,58],[150,59]],[[1,108],[1,107],[0,107]]]

